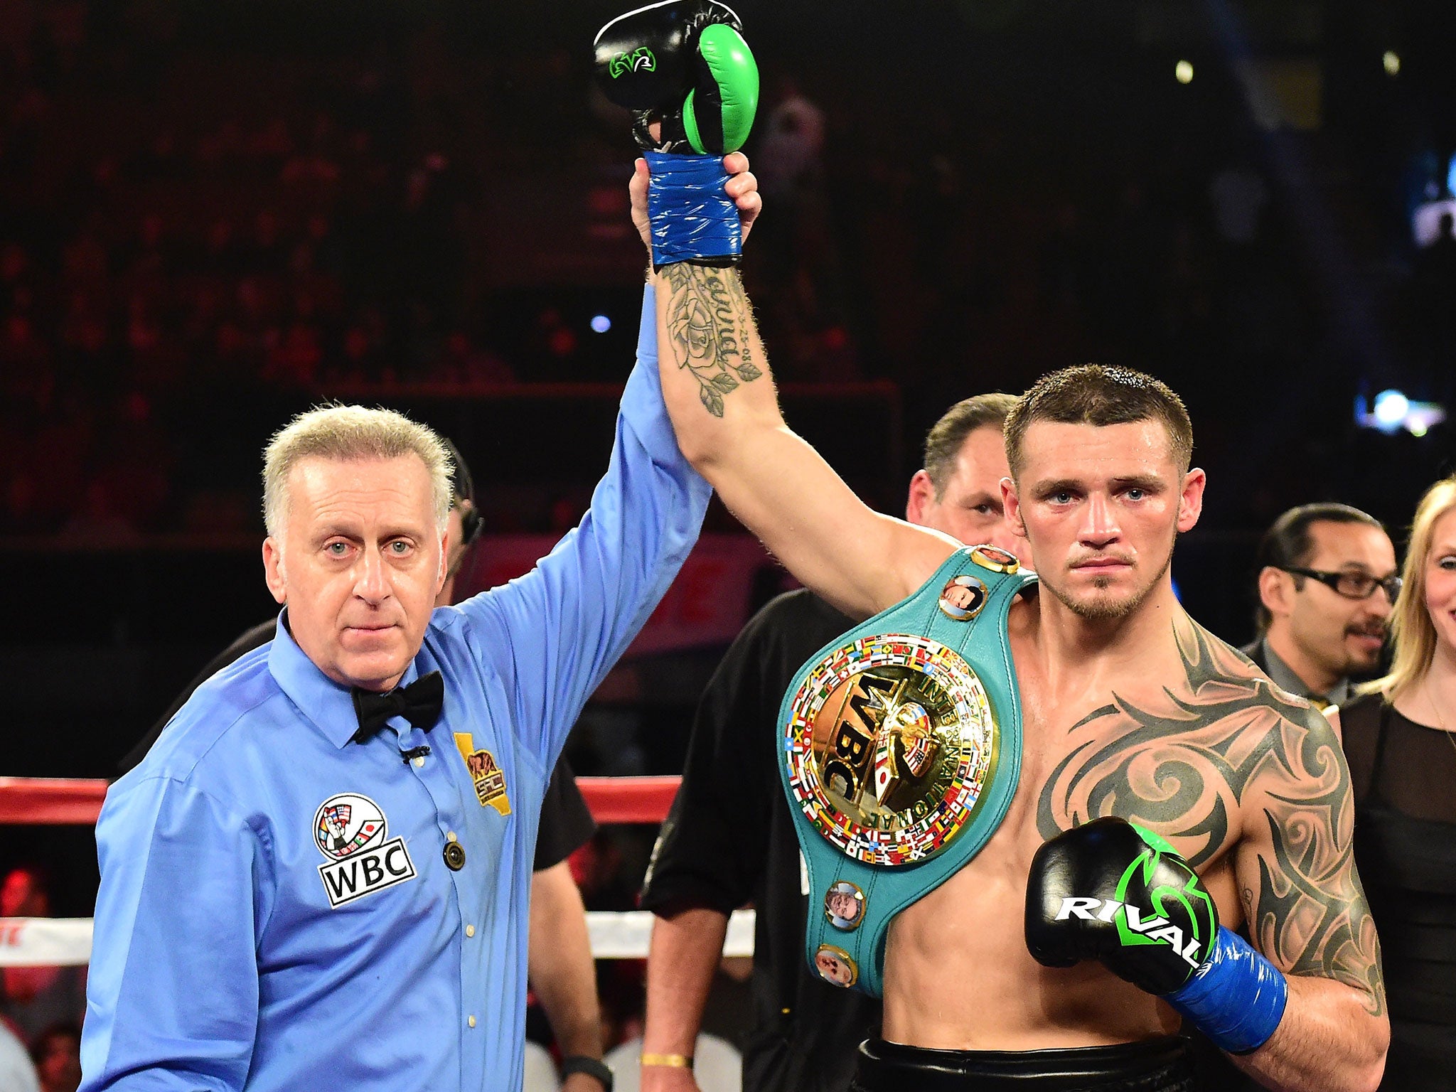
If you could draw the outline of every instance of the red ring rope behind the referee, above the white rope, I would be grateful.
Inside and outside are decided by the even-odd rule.
[[[677,795],[665,778],[577,778],[597,823],[661,823]],[[92,824],[106,798],[105,780],[0,778],[0,824]]]

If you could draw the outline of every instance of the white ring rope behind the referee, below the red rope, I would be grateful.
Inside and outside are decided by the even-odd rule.
[[[728,919],[724,955],[753,955],[753,910]],[[645,960],[652,914],[587,911],[591,954],[598,960]],[[90,962],[89,917],[0,917],[0,967],[73,967]]]

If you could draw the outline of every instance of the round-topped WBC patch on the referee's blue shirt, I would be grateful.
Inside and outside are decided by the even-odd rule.
[[[313,815],[313,844],[326,858],[319,865],[319,878],[331,909],[415,878],[405,839],[386,840],[387,836],[389,821],[368,796],[339,792],[319,805]]]

